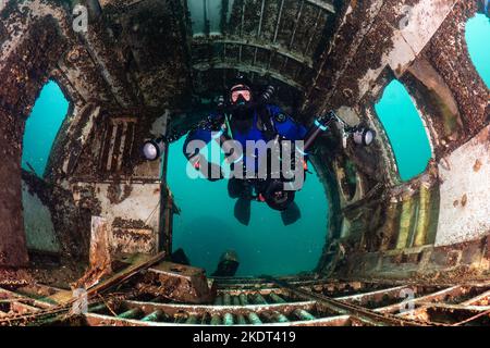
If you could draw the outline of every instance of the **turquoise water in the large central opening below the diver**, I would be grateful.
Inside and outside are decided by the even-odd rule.
[[[234,199],[228,196],[228,181],[208,182],[186,175],[182,153],[184,138],[169,151],[168,183],[181,215],[174,216],[173,249],[183,248],[191,263],[216,270],[221,253],[233,249],[240,258],[236,275],[284,275],[311,271],[326,241],[328,203],[316,175],[308,175],[296,195],[302,217],[284,226],[278,211],[252,202],[248,226],[233,215]],[[215,141],[211,146],[217,146]],[[313,167],[310,165],[310,170]]]

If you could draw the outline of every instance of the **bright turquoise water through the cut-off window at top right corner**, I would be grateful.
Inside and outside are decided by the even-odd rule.
[[[481,13],[469,18],[465,37],[473,64],[490,87],[490,18]]]

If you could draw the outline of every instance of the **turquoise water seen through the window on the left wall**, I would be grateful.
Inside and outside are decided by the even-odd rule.
[[[57,83],[50,80],[42,87],[25,124],[23,169],[30,171],[28,163],[38,176],[44,175],[52,142],[66,116],[69,105]]]

